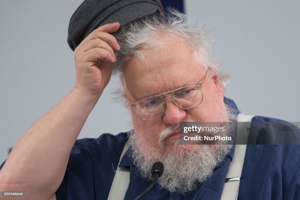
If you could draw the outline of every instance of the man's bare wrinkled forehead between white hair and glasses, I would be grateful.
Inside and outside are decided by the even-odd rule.
[[[135,100],[195,84],[205,73],[182,38],[166,38],[142,52],[144,58],[132,57],[124,66],[127,91]]]

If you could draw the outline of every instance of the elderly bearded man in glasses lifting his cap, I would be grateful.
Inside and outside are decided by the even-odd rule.
[[[134,199],[151,182],[152,164],[161,161],[164,174],[145,199],[220,199],[228,193],[223,187],[236,147],[181,145],[179,122],[231,122],[240,112],[224,97],[226,76],[217,73],[206,33],[189,28],[186,16],[174,10],[164,18],[155,2],[149,16],[122,28],[115,22],[91,32],[90,25],[80,33],[83,40],[70,33],[75,86],[0,166],[1,191],[24,191],[26,199],[107,199],[116,192],[117,199]],[[134,130],[76,141],[110,81],[112,65]],[[255,116],[252,121],[279,120]],[[299,149],[248,145],[239,191],[229,193],[238,199],[299,198],[300,158],[293,156]],[[121,168],[128,169],[129,179],[123,194],[118,190],[124,189],[112,188],[124,181],[115,177]]]

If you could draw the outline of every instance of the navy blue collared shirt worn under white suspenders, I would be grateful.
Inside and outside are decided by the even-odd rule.
[[[224,97],[224,101],[239,113],[232,100]],[[280,120],[255,116],[252,121]],[[251,126],[249,135],[253,130]],[[126,141],[127,133],[77,140],[56,198],[107,199]],[[120,162],[120,167],[130,169],[125,199],[134,199],[149,185],[149,181],[137,176],[130,152],[131,148]],[[153,187],[143,199],[220,199],[233,154],[234,148],[197,190],[182,195]],[[238,199],[300,199],[300,145],[247,145]]]

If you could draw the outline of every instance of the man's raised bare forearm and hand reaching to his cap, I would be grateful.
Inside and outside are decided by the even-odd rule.
[[[114,51],[120,47],[109,33],[118,28],[119,23],[101,26],[75,49],[74,88],[19,139],[0,171],[0,191],[24,191],[26,199],[55,199],[71,149],[110,80]]]

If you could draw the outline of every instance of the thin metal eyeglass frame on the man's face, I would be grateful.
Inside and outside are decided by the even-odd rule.
[[[201,91],[201,94],[202,94],[202,100],[201,100],[200,103],[202,103],[202,101],[203,101],[203,93],[202,93],[202,90],[201,90],[201,86],[203,85],[203,83],[204,83],[204,81],[205,81],[207,72],[208,72],[208,70],[207,70],[206,73],[205,73],[205,76],[204,76],[204,78],[203,78],[203,81],[202,81],[199,85],[198,85],[198,84],[191,84],[191,85],[197,85],[197,86],[199,87],[200,91]],[[178,106],[178,105],[176,104],[177,101],[176,101],[175,99],[172,98],[172,92],[177,91],[177,90],[180,90],[180,89],[185,88],[185,87],[188,87],[188,86],[190,86],[190,85],[186,85],[186,86],[184,86],[184,87],[177,88],[177,89],[175,89],[175,90],[171,90],[171,91],[168,91],[168,92],[165,92],[165,93],[162,93],[162,94],[158,94],[158,95],[154,95],[154,96],[151,96],[151,97],[147,97],[147,98],[145,98],[145,99],[142,99],[142,100],[137,101],[135,104],[131,104],[131,106],[132,106],[133,108],[135,108],[135,111],[137,112],[137,107],[136,107],[136,105],[137,105],[137,103],[139,103],[140,101],[143,101],[143,100],[146,100],[146,99],[150,99],[150,98],[153,98],[153,97],[158,97],[158,96],[162,97],[162,99],[163,99],[164,111],[161,113],[161,115],[160,115],[159,117],[157,117],[157,118],[155,118],[155,119],[149,119],[149,120],[146,120],[146,119],[141,118],[140,115],[139,115],[139,113],[137,112],[137,116],[139,116],[139,118],[140,118],[141,120],[143,120],[143,121],[153,121],[153,120],[156,120],[156,119],[160,118],[160,117],[164,114],[164,112],[165,112],[165,108],[166,108],[166,106],[165,106],[165,100],[166,100],[166,99],[170,98],[170,99],[173,101],[173,103],[175,103],[175,105]],[[171,93],[171,94],[170,94],[170,97],[164,98],[163,96],[161,96],[161,95],[167,94],[167,93]],[[198,106],[200,103],[198,103],[196,106]],[[178,107],[181,108],[181,109],[191,109],[191,108],[194,108],[194,107],[196,107],[196,106],[193,106],[193,107],[190,107],[190,108],[181,108],[180,106],[178,106]]]

